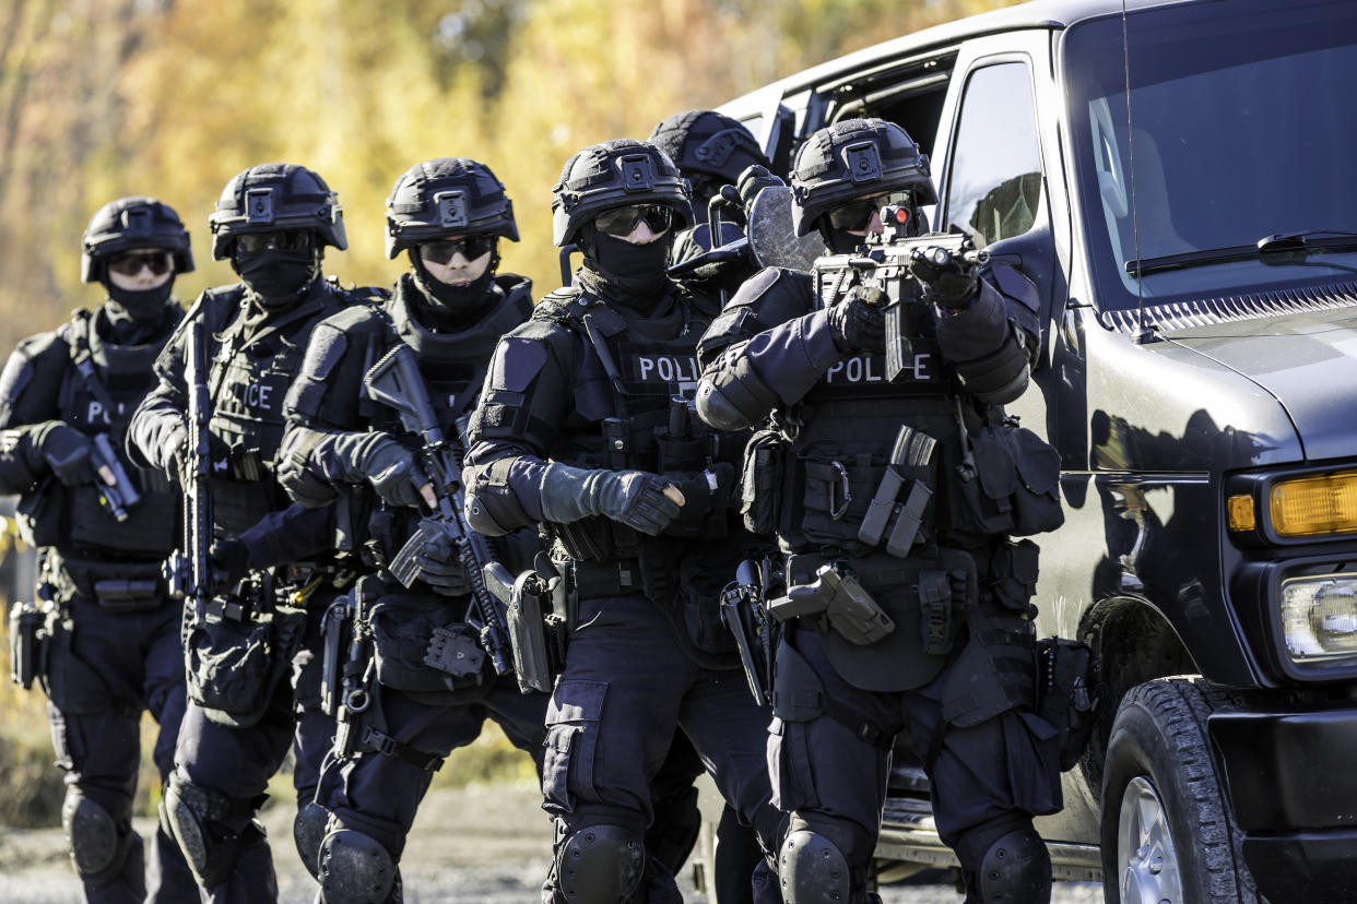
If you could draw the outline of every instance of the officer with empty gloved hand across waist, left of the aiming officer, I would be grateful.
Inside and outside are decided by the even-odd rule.
[[[642,839],[676,725],[769,850],[782,815],[765,718],[716,610],[746,545],[730,519],[737,450],[684,396],[710,316],[665,272],[674,229],[692,222],[687,183],[654,145],[615,140],[571,157],[554,195],[555,243],[577,244],[584,266],[495,350],[468,434],[467,514],[489,535],[540,525],[578,594],[547,713],[556,843],[543,896],[613,904],[655,867]]]

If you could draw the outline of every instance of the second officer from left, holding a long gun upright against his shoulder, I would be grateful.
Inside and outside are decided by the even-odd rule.
[[[324,560],[332,510],[303,512],[301,526],[288,526],[289,500],[275,480],[282,403],[311,331],[361,295],[322,278],[324,248],[342,251],[347,239],[334,192],[305,167],[250,167],[227,183],[209,224],[213,258],[229,260],[240,282],[209,289],[194,302],[156,361],[159,384],[130,432],[147,464],[175,474],[183,469],[187,327],[201,324],[210,362],[208,485],[221,583],[233,585],[251,569],[297,565],[256,572],[186,626],[190,702],[166,810],[208,899],[266,901],[277,896],[277,881],[255,810],[290,744],[296,840],[303,862],[315,867],[326,815],[308,802],[334,728],[319,709],[313,656],[320,614],[337,595]],[[218,661],[231,665],[216,668]],[[284,680],[289,670],[290,682]]]

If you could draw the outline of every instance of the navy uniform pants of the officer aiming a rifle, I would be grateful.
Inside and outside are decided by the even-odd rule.
[[[768,768],[773,801],[816,829],[854,839],[843,851],[854,877],[854,895],[864,893],[867,866],[881,831],[889,740],[905,732],[932,787],[938,835],[949,846],[970,828],[1003,817],[1019,819],[1060,809],[1060,770],[1054,729],[1027,712],[1010,710],[972,728],[946,725],[939,741],[942,691],[950,665],[912,691],[864,691],[847,683],[825,656],[824,634],[798,622],[784,638],[824,684],[825,697],[875,728],[883,744],[871,744],[844,718],[821,714],[809,721],[775,718],[769,729]],[[843,716],[844,710],[839,710]],[[931,748],[936,762],[928,768]],[[969,900],[969,899],[968,899]]]

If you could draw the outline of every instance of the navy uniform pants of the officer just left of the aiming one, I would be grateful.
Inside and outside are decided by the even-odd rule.
[[[547,712],[543,808],[566,834],[573,821],[601,820],[643,835],[654,819],[651,783],[677,726],[741,821],[775,846],[783,816],[771,805],[767,724],[744,674],[700,668],[650,599],[581,599]],[[551,878],[543,900],[566,900]],[[780,900],[763,871],[754,900]]]

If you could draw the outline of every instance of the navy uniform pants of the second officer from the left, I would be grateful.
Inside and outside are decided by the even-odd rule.
[[[278,880],[269,842],[252,827],[254,810],[263,802],[269,779],[282,767],[290,749],[294,756],[292,774],[299,798],[315,793],[320,762],[334,737],[334,720],[299,687],[312,683],[311,675],[320,663],[320,619],[334,591],[316,594],[308,606],[307,630],[301,651],[293,657],[290,680],[280,680],[273,690],[269,709],[255,725],[232,728],[208,718],[202,707],[189,702],[175,771],[182,779],[224,794],[239,806],[225,820],[240,835],[243,844],[235,869],[225,882],[201,889],[204,901],[212,904],[255,904],[278,900]]]

